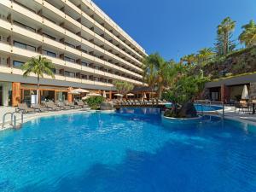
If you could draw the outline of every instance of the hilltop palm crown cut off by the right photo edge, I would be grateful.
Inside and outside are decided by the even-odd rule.
[[[241,26],[243,32],[239,36],[241,44],[245,44],[247,47],[250,47],[256,44],[256,23],[253,20],[247,25]]]

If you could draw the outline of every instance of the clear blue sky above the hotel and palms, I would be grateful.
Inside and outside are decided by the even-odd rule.
[[[224,17],[241,26],[256,20],[256,0],[94,0],[147,53],[166,60],[212,47]]]

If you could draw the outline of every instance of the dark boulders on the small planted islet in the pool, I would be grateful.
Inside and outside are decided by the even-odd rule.
[[[195,118],[197,117],[197,112],[194,104],[192,102],[187,102],[182,108],[177,108],[176,112],[174,109],[166,110],[164,116],[172,118]]]

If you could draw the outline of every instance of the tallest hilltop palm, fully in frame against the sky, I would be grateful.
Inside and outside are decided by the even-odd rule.
[[[226,55],[230,52],[230,36],[231,32],[235,30],[236,21],[231,20],[230,17],[224,18],[220,25],[218,25],[218,36],[221,37],[223,44],[223,54]]]

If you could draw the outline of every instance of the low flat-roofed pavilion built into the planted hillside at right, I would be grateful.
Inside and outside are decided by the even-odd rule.
[[[242,75],[235,78],[219,79],[206,84],[204,98],[212,102],[232,103],[241,100],[244,85],[250,99],[256,98],[256,74]]]

